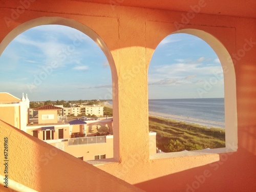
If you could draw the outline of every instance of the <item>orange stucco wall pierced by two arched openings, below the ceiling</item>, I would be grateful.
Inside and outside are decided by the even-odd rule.
[[[1,8],[1,18],[10,16],[11,8],[17,6],[7,2],[7,8]],[[253,191],[256,188],[256,20],[253,18],[197,13],[189,19],[188,24],[180,28],[199,29],[211,34],[232,56],[236,79],[230,81],[236,83],[236,92],[233,93],[234,89],[230,88],[229,93],[234,94],[236,99],[226,99],[225,102],[229,106],[237,105],[238,120],[234,122],[234,136],[237,124],[238,150],[233,153],[150,159],[147,68],[159,42],[168,34],[177,32],[174,24],[182,22],[183,14],[186,13],[123,6],[115,6],[113,9],[110,5],[75,1],[61,1],[61,6],[58,1],[35,1],[28,10],[10,22],[9,26],[4,19],[0,20],[1,41],[7,36],[0,45],[0,52],[16,35],[37,25],[68,25],[87,32],[101,45],[109,59],[113,80],[114,159],[117,162],[99,165],[98,168],[146,191]],[[63,17],[68,19],[62,19]],[[37,20],[31,20],[36,18]],[[203,34],[200,37],[204,38]],[[248,41],[250,49],[247,46],[245,51],[244,45],[248,45]],[[214,44],[211,46],[215,47]],[[228,98],[228,87],[225,89],[225,97]],[[232,121],[229,123],[232,124]],[[11,146],[17,147],[17,139],[13,138],[12,142]],[[29,148],[31,145],[27,144],[22,148],[39,154],[42,153],[41,149],[44,151],[48,147],[39,143],[35,146],[40,148],[40,152],[37,151],[38,148]],[[15,175],[17,181],[35,188],[42,187],[40,182],[45,181],[46,172],[37,175],[36,182],[32,179],[26,180],[22,172],[24,166],[27,166],[24,164],[28,163],[26,159],[34,158],[34,154],[19,155],[21,161],[13,165],[15,167],[12,168],[12,177]],[[59,161],[51,162],[49,167],[54,168],[51,171],[53,175],[63,173],[55,168]],[[69,161],[65,160],[64,163]],[[81,171],[78,168],[77,170]],[[28,169],[30,174],[34,171],[33,168]],[[74,171],[74,174],[77,175],[77,172]],[[66,184],[59,179],[55,185],[62,183]]]

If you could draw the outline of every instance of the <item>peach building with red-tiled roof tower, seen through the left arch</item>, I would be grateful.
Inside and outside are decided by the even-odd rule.
[[[68,122],[67,116],[59,115],[62,109],[54,105],[35,108],[38,119],[31,119],[26,132],[84,161],[113,158],[112,118]]]

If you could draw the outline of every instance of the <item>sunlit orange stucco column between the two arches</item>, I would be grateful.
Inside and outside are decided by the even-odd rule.
[[[148,96],[145,26],[136,18],[120,20],[119,49],[112,51],[118,69],[118,90],[113,94],[118,92],[119,160],[125,163],[130,159],[136,162],[149,158]],[[114,152],[114,156],[117,158],[117,153]]]

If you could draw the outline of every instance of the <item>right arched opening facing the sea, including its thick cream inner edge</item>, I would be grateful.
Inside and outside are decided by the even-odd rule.
[[[184,42],[186,37],[187,39]],[[192,38],[189,39],[189,37]],[[189,44],[194,43],[195,45],[193,40],[198,40],[199,47],[203,47],[201,52],[191,49],[193,45]],[[167,46],[168,44],[169,46]],[[183,47],[181,52],[182,46],[185,46],[185,49]],[[213,50],[214,54],[207,55],[210,49]],[[168,56],[165,57],[164,55]],[[216,57],[212,57],[212,55]],[[167,152],[184,151],[179,155],[187,155],[186,151],[190,150],[200,150],[200,152],[206,153],[236,151],[235,74],[229,53],[221,42],[201,30],[180,30],[178,34],[172,33],[160,42],[151,60],[151,64],[154,65],[154,63],[156,65],[155,68],[150,66],[148,69],[148,98],[166,99],[148,101],[150,131],[157,132],[157,147],[160,143],[157,152],[161,152],[161,147],[167,148],[164,148],[165,152],[167,150],[169,150]],[[214,99],[207,100],[206,98],[209,97]],[[167,100],[170,98],[173,100]],[[219,108],[217,108],[218,105]],[[200,109],[200,107],[202,108]],[[174,116],[168,115],[168,113]],[[151,115],[164,117],[164,119],[151,117]],[[208,117],[206,117],[207,115]],[[166,117],[176,120],[171,122]],[[195,122],[195,119],[200,120]],[[207,122],[201,123],[203,122],[201,121],[202,119]],[[210,124],[213,121],[220,121],[220,124]],[[215,139],[212,141],[215,143],[217,142],[217,137],[223,137],[224,145],[217,144],[214,147],[216,149],[212,150],[208,149],[211,147],[204,147],[207,148],[204,150],[196,142],[194,143],[195,145],[191,144],[194,142],[193,137],[198,137],[195,138],[196,140],[203,137],[202,131],[200,129],[200,131],[196,131],[195,124],[184,126],[184,124],[187,124],[184,122],[208,125],[205,131],[210,133],[210,130],[212,130],[216,136],[216,141]],[[191,127],[195,129],[195,133],[191,133],[193,137],[188,135],[189,130],[192,129]],[[221,127],[225,133],[223,135],[221,130],[209,129],[209,127]],[[206,141],[214,138],[212,137],[214,133],[210,133],[211,136],[206,136]],[[203,141],[202,146],[206,146]]]

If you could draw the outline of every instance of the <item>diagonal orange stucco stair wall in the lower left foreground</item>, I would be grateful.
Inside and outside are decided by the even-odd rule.
[[[0,136],[8,138],[8,178],[36,191],[142,191],[1,120]],[[0,168],[5,169],[4,163]],[[8,188],[3,185],[0,191],[11,191],[10,182]]]

